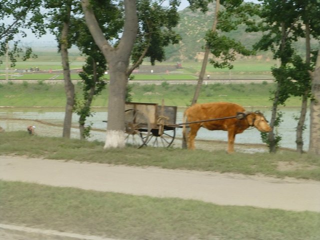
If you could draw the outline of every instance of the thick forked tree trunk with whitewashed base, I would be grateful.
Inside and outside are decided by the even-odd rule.
[[[109,63],[108,123],[104,148],[124,146],[124,104],[128,64],[138,29],[136,1],[124,0],[124,28],[119,43],[112,47],[99,28],[88,0],[81,0],[90,33]]]

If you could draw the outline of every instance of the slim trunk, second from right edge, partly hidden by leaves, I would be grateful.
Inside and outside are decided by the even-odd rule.
[[[310,28],[309,22],[305,22],[305,63],[309,66],[310,65]],[[309,89],[306,89],[302,95],[302,103],[301,103],[301,111],[298,124],[296,126],[296,150],[299,153],[303,152],[303,130],[304,130],[304,121],[306,115],[306,107],[307,107],[307,100],[308,100]]]

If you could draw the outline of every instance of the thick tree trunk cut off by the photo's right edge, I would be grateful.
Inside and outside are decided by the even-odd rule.
[[[316,58],[314,72],[310,72],[312,79],[312,99],[310,103],[310,144],[309,153],[320,155],[320,49]]]

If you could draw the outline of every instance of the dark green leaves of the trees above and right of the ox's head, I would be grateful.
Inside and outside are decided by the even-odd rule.
[[[318,14],[319,6],[314,0],[264,0],[262,6],[257,11],[261,21],[252,24],[248,31],[263,31],[261,39],[254,44],[256,50],[268,50],[273,53],[273,58],[280,59],[280,66],[272,68],[272,75],[277,81],[277,89],[274,91],[271,122],[274,122],[270,133],[262,134],[262,139],[267,142],[271,151],[278,148],[281,139],[276,130],[276,122],[281,114],[277,112],[279,104],[285,104],[290,95],[302,95],[306,99],[306,93],[310,90],[310,77],[307,70],[309,64],[309,49],[306,47],[306,62],[303,63],[301,57],[297,56],[293,47],[299,37],[305,37],[306,46],[309,45],[309,32],[318,37],[318,29],[313,31],[313,23],[310,24],[310,16],[315,12]],[[316,22],[319,22],[316,20]],[[311,29],[311,30],[310,30]],[[317,32],[317,33],[316,33]],[[293,67],[291,67],[291,65]],[[275,119],[274,119],[275,118]],[[301,118],[303,120],[303,118]],[[300,130],[300,129],[297,129]]]

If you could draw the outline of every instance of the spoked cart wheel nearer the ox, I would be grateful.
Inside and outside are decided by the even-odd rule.
[[[163,133],[159,135],[158,129],[151,129],[151,134],[145,144],[148,146],[169,147],[175,137],[175,127],[164,126]]]

